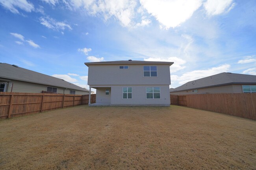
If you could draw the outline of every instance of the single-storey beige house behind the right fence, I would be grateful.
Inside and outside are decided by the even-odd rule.
[[[255,93],[256,76],[223,72],[189,81],[170,94]]]

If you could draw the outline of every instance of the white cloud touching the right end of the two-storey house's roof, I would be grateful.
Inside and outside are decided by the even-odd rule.
[[[144,61],[167,61],[167,62],[174,62],[173,65],[170,67],[170,72],[176,72],[185,68],[184,64],[186,63],[185,60],[178,58],[178,57],[169,57],[167,59],[164,58],[146,58]]]

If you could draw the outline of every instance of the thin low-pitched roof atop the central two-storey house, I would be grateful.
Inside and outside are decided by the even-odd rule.
[[[163,62],[163,61],[132,61],[132,60],[125,60],[125,61],[101,61],[101,62],[91,62],[91,63],[84,63],[85,65],[120,65],[120,64],[168,64],[172,65],[173,62]]]

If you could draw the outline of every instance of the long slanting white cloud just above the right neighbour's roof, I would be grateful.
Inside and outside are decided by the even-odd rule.
[[[195,71],[186,72],[182,74],[182,76],[171,75],[171,81],[172,82],[178,81],[178,83],[182,85],[184,83],[187,83],[188,81],[197,80],[199,78],[204,78],[214,74],[219,74],[221,72],[227,72],[229,68],[230,68],[230,65],[224,64],[219,67],[212,67],[207,70],[195,70]]]

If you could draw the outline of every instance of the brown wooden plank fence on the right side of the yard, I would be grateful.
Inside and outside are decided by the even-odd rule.
[[[219,112],[256,120],[256,93],[170,95],[171,105]]]

